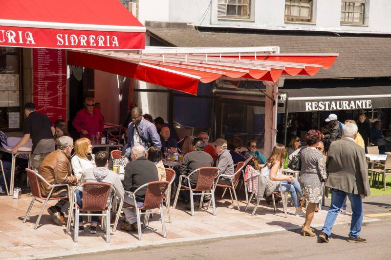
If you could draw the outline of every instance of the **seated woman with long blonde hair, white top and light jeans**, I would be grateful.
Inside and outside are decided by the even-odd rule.
[[[272,155],[266,161],[265,166],[261,170],[261,175],[269,178],[273,181],[279,181],[282,185],[282,191],[287,191],[293,200],[293,204],[296,208],[295,216],[304,216],[302,211],[302,205],[304,204],[303,193],[300,187],[300,183],[296,178],[282,174],[281,167],[285,160],[285,146],[281,143],[277,143],[274,146]],[[280,190],[280,185],[277,185],[276,191]],[[301,200],[297,198],[299,193]]]

